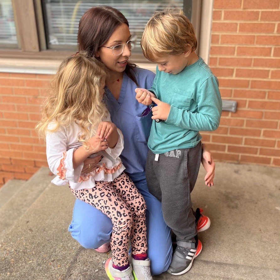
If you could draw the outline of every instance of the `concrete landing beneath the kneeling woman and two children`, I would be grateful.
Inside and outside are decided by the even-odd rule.
[[[280,279],[280,169],[219,162],[210,188],[204,174],[201,169],[192,193],[193,207],[211,219],[199,233],[202,252],[186,274],[153,279]],[[0,232],[1,280],[109,279],[104,264],[111,254],[81,247],[67,231],[73,202],[67,187],[49,184],[9,231]]]

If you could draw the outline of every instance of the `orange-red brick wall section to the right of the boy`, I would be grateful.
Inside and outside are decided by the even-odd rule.
[[[209,66],[222,98],[238,104],[203,133],[216,160],[280,166],[279,8],[279,0],[214,0]]]

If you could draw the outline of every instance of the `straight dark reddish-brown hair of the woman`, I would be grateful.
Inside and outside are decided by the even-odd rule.
[[[125,16],[115,8],[106,5],[89,8],[79,22],[79,51],[86,51],[94,57],[99,48],[109,40],[116,28],[123,23],[129,27]],[[136,64],[128,61],[125,73],[139,86],[132,74],[134,67],[136,67]]]

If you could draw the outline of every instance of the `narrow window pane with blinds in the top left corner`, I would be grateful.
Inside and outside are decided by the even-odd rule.
[[[0,1],[0,46],[18,46],[12,0]]]

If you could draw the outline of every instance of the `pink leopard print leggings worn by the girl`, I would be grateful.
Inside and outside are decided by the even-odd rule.
[[[112,182],[95,181],[95,184],[92,189],[70,189],[78,199],[94,206],[111,219],[113,263],[125,266],[128,264],[129,239],[132,254],[147,251],[146,203],[124,172]]]

